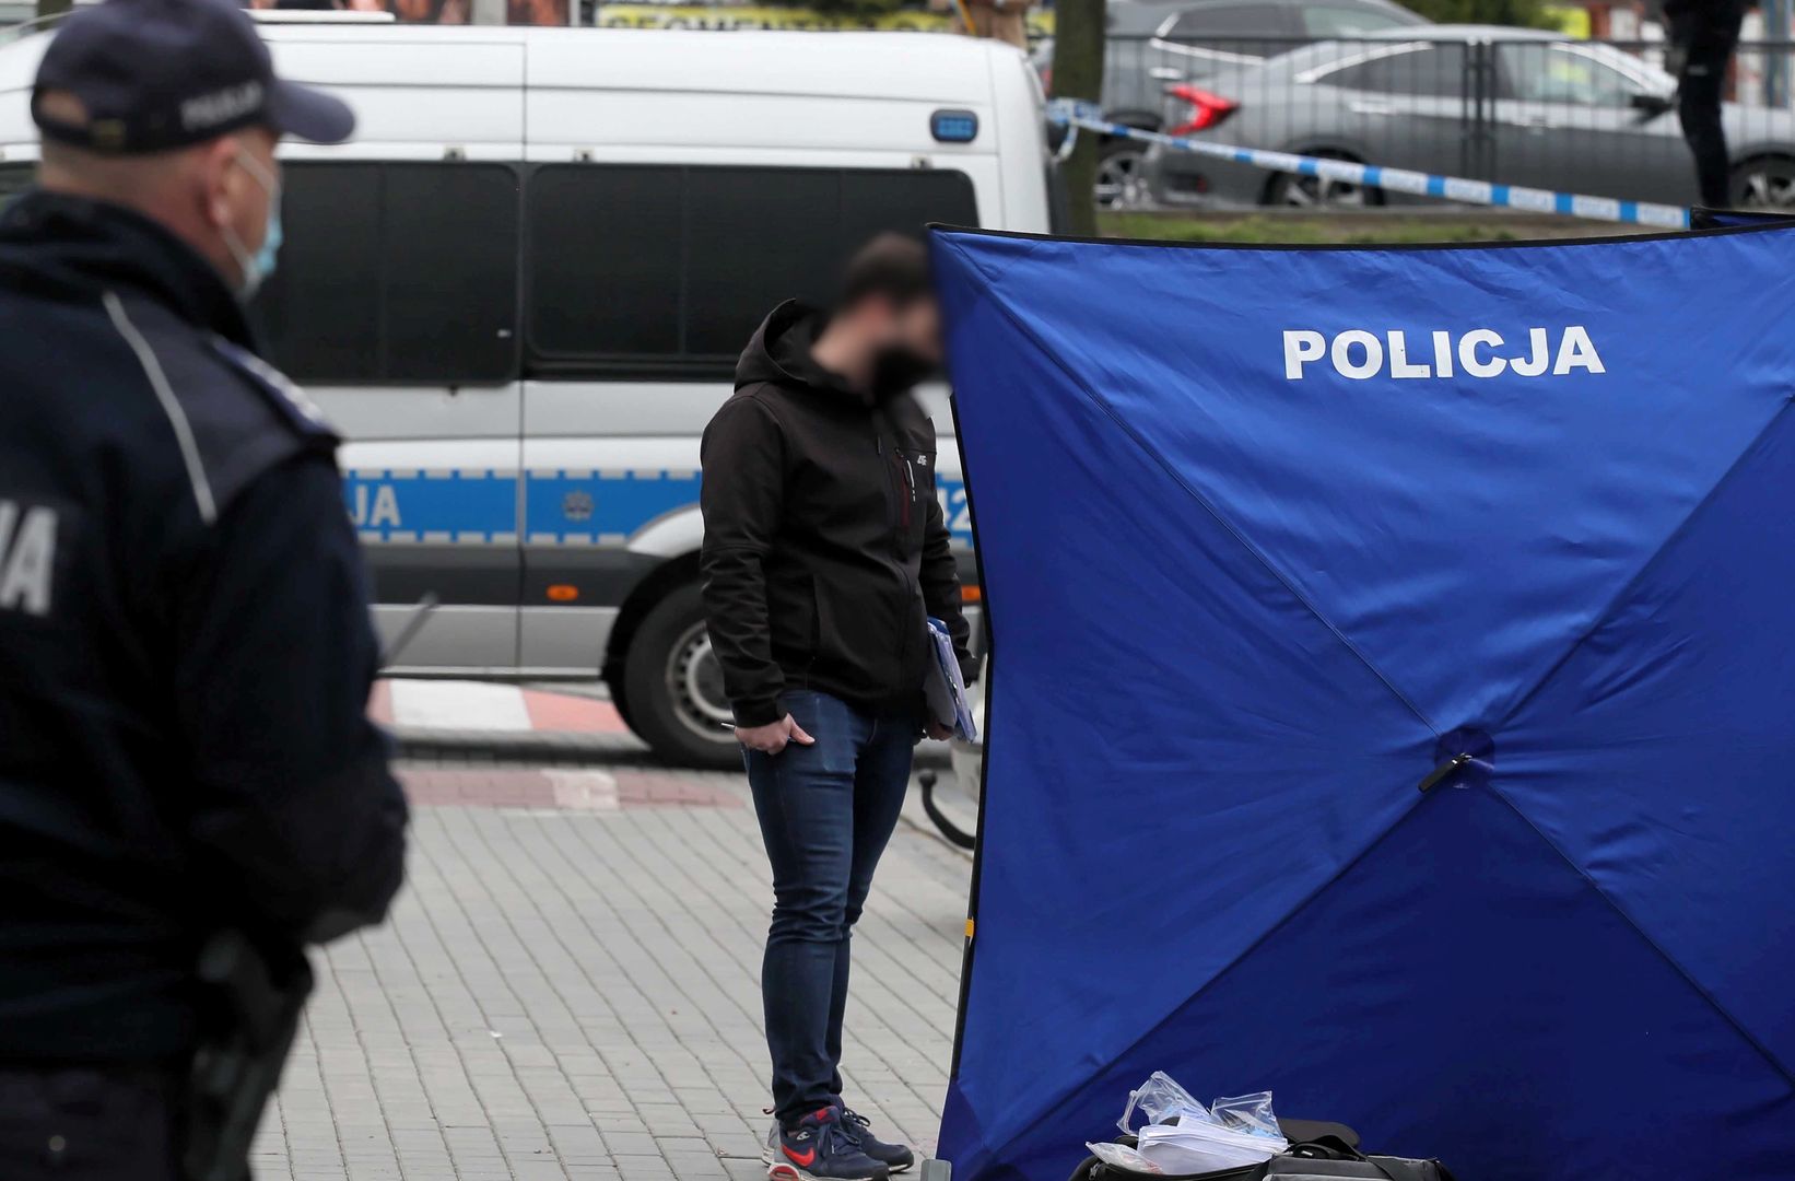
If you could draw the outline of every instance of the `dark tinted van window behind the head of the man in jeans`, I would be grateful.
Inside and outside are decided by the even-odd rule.
[[[781,300],[827,300],[881,230],[976,224],[957,171],[542,165],[528,354],[549,372],[727,373]]]

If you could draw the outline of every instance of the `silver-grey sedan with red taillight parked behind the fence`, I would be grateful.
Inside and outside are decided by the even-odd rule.
[[[1167,129],[1416,172],[1687,205],[1694,165],[1675,79],[1621,48],[1547,32],[1431,25],[1330,41],[1174,86]],[[1795,115],[1727,102],[1734,201],[1795,208]],[[1152,149],[1161,205],[1425,201]]]

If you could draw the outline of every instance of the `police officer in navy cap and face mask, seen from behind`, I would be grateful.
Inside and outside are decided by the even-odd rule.
[[[336,436],[257,357],[282,135],[228,0],[77,11],[0,215],[0,1177],[180,1176],[221,930],[375,923],[406,806]]]

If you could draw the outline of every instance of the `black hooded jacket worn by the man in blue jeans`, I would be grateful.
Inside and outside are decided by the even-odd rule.
[[[779,693],[863,709],[919,700],[926,617],[968,626],[935,497],[935,425],[908,391],[847,386],[810,350],[824,316],[781,303],[704,433],[704,605],[738,725]]]

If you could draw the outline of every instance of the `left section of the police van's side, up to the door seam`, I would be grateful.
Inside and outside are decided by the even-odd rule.
[[[276,359],[311,379],[318,404],[350,440],[341,452],[345,503],[373,576],[382,635],[391,639],[425,596],[440,603],[398,653],[397,671],[510,675],[519,664],[522,564],[515,305],[504,319],[479,319],[490,300],[456,300],[452,289],[467,269],[456,264],[474,257],[460,242],[488,253],[495,241],[510,242],[497,273],[477,273],[517,284],[524,47],[345,43],[332,34],[294,29],[271,38],[282,72],[332,88],[357,111],[354,142],[282,149],[291,242],[264,303],[291,300],[275,319],[302,339],[284,343],[276,332]],[[510,178],[481,162],[501,162]],[[476,176],[485,201],[463,206],[463,181]],[[513,194],[503,226],[486,221],[494,190],[501,199]],[[427,298],[451,302],[431,312]],[[400,314],[413,330],[395,337]],[[477,352],[512,359],[463,372],[447,350],[427,345],[445,334],[463,345],[477,334],[490,341]],[[418,345],[440,364],[400,355]]]

